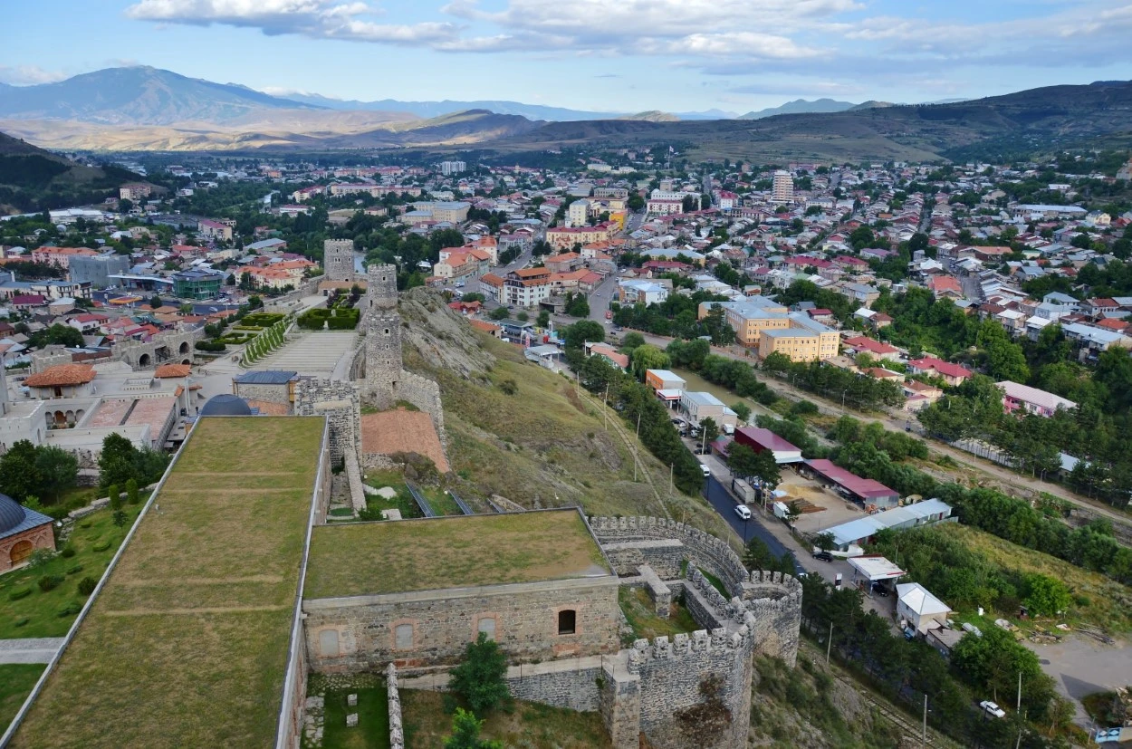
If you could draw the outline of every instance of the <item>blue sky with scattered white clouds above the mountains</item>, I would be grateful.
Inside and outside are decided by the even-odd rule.
[[[602,112],[1132,79],[1132,0],[14,0],[0,81],[147,64],[268,93]]]

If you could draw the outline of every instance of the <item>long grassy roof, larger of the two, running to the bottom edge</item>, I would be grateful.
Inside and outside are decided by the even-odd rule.
[[[321,419],[203,419],[12,747],[268,747]]]

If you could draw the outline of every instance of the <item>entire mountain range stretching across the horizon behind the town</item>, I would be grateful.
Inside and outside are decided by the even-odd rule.
[[[713,119],[705,119],[713,118]],[[511,101],[277,96],[154,68],[0,85],[0,131],[69,150],[325,150],[676,145],[701,157],[938,160],[1132,132],[1132,84],[1054,86],[932,105],[797,100],[731,112],[583,112]],[[765,163],[765,162],[764,162]]]

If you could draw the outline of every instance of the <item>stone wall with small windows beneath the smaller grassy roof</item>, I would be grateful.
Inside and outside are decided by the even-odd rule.
[[[453,588],[303,602],[310,668],[326,673],[454,663],[475,639],[481,619],[508,657],[549,661],[614,653],[619,647],[616,578]],[[558,612],[573,609],[576,630],[558,634]],[[397,642],[397,627],[411,642]],[[333,635],[324,631],[333,630]],[[323,646],[334,643],[328,653]]]

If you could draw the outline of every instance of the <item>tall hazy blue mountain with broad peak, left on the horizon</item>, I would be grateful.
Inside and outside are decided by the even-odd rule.
[[[0,119],[224,124],[251,112],[282,109],[324,107],[148,67],[108,68],[53,84],[0,88]]]

